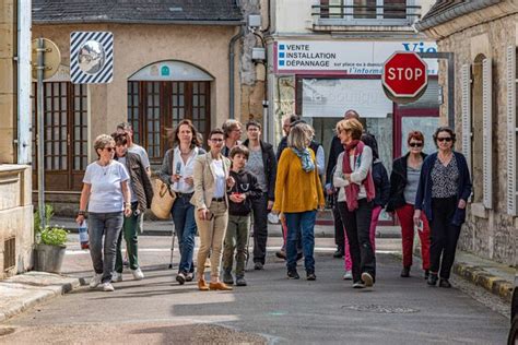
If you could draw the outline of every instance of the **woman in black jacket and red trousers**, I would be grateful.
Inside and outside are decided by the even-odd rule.
[[[419,186],[421,167],[426,155],[423,153],[424,135],[420,131],[412,131],[407,139],[409,153],[397,158],[390,174],[390,199],[387,212],[396,212],[401,224],[401,242],[403,246],[403,270],[401,277],[410,276],[412,266],[412,248],[414,243],[414,203]],[[429,272],[429,227],[423,215],[417,234],[421,239],[421,255],[423,260],[424,277]]]

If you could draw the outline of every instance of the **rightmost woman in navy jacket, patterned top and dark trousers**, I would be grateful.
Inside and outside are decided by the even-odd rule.
[[[425,158],[415,197],[414,224],[419,225],[423,211],[431,227],[427,281],[431,286],[435,286],[440,277],[440,287],[451,287],[448,279],[472,189],[466,157],[454,151],[455,141],[450,128],[439,127],[435,131],[434,142],[438,151]]]

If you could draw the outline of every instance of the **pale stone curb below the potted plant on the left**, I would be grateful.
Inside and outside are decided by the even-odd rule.
[[[0,311],[0,322],[3,322],[12,317],[15,317],[25,310],[35,307],[42,302],[48,301],[57,296],[64,295],[72,292],[73,289],[80,287],[84,279],[82,278],[71,278],[72,282],[64,283],[60,286],[42,286],[40,289],[34,290],[33,296],[26,297],[23,300],[14,301]],[[0,285],[2,282],[0,282]],[[20,284],[22,286],[22,284]],[[13,284],[13,288],[16,288],[16,285]],[[23,288],[23,287],[22,287]]]

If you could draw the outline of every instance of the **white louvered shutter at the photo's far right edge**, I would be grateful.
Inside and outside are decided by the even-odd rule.
[[[507,213],[518,215],[516,179],[516,47],[507,47]]]

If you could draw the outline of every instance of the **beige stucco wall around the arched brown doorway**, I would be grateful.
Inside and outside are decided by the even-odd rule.
[[[127,81],[134,72],[156,61],[180,60],[214,78],[211,83],[211,123],[228,117],[228,41],[235,26],[201,25],[35,25],[33,36],[54,40],[62,63],[70,63],[70,33],[109,31],[114,34],[114,81],[91,85],[91,138],[110,133],[127,119]],[[237,60],[237,59],[236,59]],[[237,73],[236,69],[236,73]],[[236,85],[236,96],[239,87]],[[238,99],[238,98],[237,98]],[[238,109],[238,105],[236,108]]]

